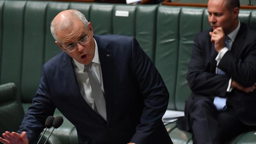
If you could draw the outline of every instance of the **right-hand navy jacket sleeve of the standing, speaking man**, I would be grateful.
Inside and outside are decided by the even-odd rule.
[[[169,101],[169,93],[150,58],[141,49],[136,39],[132,40],[132,65],[145,107],[141,123],[136,127],[131,142],[149,144],[153,141],[154,129],[161,124]]]

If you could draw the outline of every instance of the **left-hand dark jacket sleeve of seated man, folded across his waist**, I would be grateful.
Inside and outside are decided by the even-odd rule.
[[[210,66],[206,64],[206,59],[215,61],[213,54],[206,52],[209,51],[206,46],[210,47],[210,41],[204,41],[206,39],[202,35],[196,35],[195,37],[191,61],[188,66],[187,81],[194,94],[225,96],[230,76],[215,74],[215,70],[213,72],[210,70]]]

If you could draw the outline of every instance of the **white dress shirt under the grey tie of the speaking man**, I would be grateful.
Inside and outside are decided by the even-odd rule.
[[[95,39],[94,39],[95,41]],[[83,96],[83,99],[88,103],[88,105],[95,110],[95,102],[91,90],[91,84],[89,81],[88,73],[85,70],[85,65],[78,63],[75,59],[73,59],[73,66],[74,71],[76,74],[76,81],[78,83],[78,87],[80,89],[80,92]],[[101,72],[101,66],[100,66],[100,59],[98,55],[98,45],[95,41],[95,55],[92,60],[92,66],[91,70],[96,74],[96,77],[98,78],[98,81],[100,82],[101,89],[104,93],[104,87],[103,87],[103,79],[102,79],[102,72]]]

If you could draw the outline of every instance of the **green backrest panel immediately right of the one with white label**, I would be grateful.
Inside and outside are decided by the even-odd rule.
[[[154,62],[158,5],[138,5],[135,16],[135,37]]]

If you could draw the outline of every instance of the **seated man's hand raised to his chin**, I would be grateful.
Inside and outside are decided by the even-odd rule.
[[[214,42],[216,52],[219,53],[226,46],[223,28],[218,27],[212,32],[210,31],[209,35],[211,36],[211,42]]]

